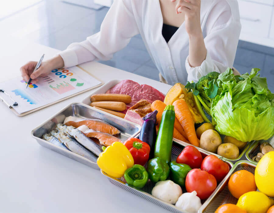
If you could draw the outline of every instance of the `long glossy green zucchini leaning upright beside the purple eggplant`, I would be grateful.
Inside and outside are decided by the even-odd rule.
[[[167,163],[171,161],[174,121],[174,106],[167,105],[162,114],[154,150],[154,158],[159,157]]]

